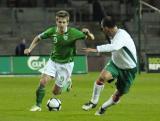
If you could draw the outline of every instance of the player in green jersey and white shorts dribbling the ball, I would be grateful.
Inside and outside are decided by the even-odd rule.
[[[75,55],[75,43],[77,40],[93,40],[94,36],[87,28],[82,31],[68,27],[69,13],[61,10],[56,13],[56,26],[52,26],[43,33],[36,36],[30,47],[24,53],[29,54],[40,40],[51,39],[53,49],[47,64],[41,69],[42,77],[36,91],[36,105],[30,111],[41,111],[42,99],[45,95],[45,86],[51,79],[55,79],[53,94],[69,90],[71,87],[71,74],[74,66],[73,57]]]

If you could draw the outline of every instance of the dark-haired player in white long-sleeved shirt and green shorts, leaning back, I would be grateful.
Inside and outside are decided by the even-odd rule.
[[[104,44],[94,48],[84,48],[85,52],[111,52],[111,60],[101,71],[99,78],[94,83],[91,100],[82,106],[88,111],[95,108],[101,90],[105,82],[116,81],[116,90],[113,95],[100,107],[95,115],[102,115],[110,106],[117,104],[120,98],[129,91],[137,72],[136,47],[131,36],[123,29],[116,26],[112,17],[105,17],[101,22],[101,27],[111,41],[111,44]]]

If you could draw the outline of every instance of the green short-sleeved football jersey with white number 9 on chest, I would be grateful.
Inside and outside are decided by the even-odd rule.
[[[68,63],[73,61],[75,55],[76,40],[85,39],[85,34],[76,28],[68,28],[64,34],[57,33],[57,27],[53,26],[39,35],[41,39],[52,40],[51,60],[58,63]]]

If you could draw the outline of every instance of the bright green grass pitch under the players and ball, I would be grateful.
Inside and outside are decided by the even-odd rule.
[[[37,77],[0,77],[0,121],[160,121],[160,74],[138,75],[130,92],[121,102],[109,108],[105,115],[95,116],[95,111],[113,93],[114,84],[105,85],[98,106],[83,111],[81,106],[92,94],[94,80],[99,73],[73,75],[73,89],[58,96],[62,109],[49,112],[46,102],[52,97],[53,81],[46,87],[41,112],[30,112],[35,104]]]

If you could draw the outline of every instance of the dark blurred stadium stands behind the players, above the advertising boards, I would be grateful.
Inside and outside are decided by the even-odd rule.
[[[144,2],[160,9],[159,0]],[[35,35],[55,24],[55,12],[65,9],[71,15],[71,26],[87,27],[96,37],[92,42],[78,42],[77,48],[108,43],[99,24],[102,17],[112,15],[119,27],[131,34],[136,46],[141,46],[138,51],[143,66],[147,53],[160,53],[160,13],[141,5],[141,23],[138,23],[138,3],[139,0],[0,0],[0,55],[21,55],[16,52],[17,46],[21,43],[24,48],[28,46]],[[137,24],[141,27],[140,41]],[[51,42],[42,43],[32,55],[49,54]]]

